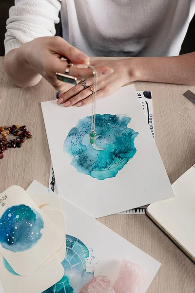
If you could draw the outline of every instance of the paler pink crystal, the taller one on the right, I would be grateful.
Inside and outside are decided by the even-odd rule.
[[[144,281],[143,273],[137,264],[123,259],[120,272],[113,289],[115,293],[136,293]]]

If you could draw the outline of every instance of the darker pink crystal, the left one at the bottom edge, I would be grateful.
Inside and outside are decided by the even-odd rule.
[[[105,276],[96,276],[79,293],[115,293],[110,280]]]

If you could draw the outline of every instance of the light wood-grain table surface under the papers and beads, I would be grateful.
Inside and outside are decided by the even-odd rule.
[[[195,92],[195,86],[134,84],[139,91],[152,91],[156,145],[173,183],[195,164],[195,105],[182,96],[188,89]],[[21,148],[4,153],[0,192],[12,185],[27,188],[34,179],[48,186],[51,158],[40,102],[55,97],[45,80],[25,89],[11,84],[0,58],[0,126],[25,124],[33,134]],[[162,264],[148,293],[195,293],[194,263],[146,215],[111,215],[99,221]]]

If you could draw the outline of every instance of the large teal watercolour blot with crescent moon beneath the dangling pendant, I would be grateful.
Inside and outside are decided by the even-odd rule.
[[[115,177],[136,153],[138,135],[128,128],[131,118],[124,114],[96,115],[96,141],[91,145],[91,117],[82,118],[65,139],[63,150],[71,155],[78,172],[104,180]]]

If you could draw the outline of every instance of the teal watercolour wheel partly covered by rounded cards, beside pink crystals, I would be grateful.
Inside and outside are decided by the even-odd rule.
[[[94,277],[94,268],[92,272],[86,271],[88,257],[87,247],[79,239],[66,235],[66,257],[62,262],[64,276],[44,293],[78,293]]]

